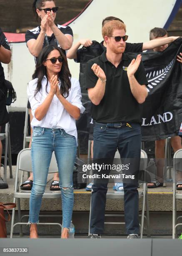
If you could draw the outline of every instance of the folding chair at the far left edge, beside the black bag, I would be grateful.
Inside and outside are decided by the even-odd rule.
[[[2,156],[4,159],[4,165],[0,163],[1,166],[4,168],[4,182],[6,182],[7,176],[7,162],[10,167],[10,179],[12,179],[12,161],[11,161],[11,144],[10,144],[10,123],[6,123],[5,125],[5,133],[0,133],[0,140],[5,140],[5,154]],[[7,157],[8,154],[8,157]]]

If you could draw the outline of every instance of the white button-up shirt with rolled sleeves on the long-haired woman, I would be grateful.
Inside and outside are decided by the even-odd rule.
[[[35,118],[35,110],[38,108],[42,102],[44,102],[47,94],[50,92],[50,82],[47,85],[47,78],[44,76],[42,79],[42,90],[40,90],[35,96],[35,90],[37,87],[37,78],[31,80],[28,83],[27,95],[32,109],[33,119],[31,122],[32,128],[34,126],[40,126],[45,128],[55,128],[55,129],[64,129],[66,133],[73,135],[77,139],[77,128],[75,124],[75,119],[65,110],[60,100],[54,95],[50,107],[42,120],[37,120]],[[59,84],[59,87],[61,83]],[[71,88],[69,90],[69,96],[66,98],[68,102],[72,105],[80,108],[80,113],[85,111],[85,108],[82,106],[81,102],[81,90],[80,83],[77,79],[71,78]]]

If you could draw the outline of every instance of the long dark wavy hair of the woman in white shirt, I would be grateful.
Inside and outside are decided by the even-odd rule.
[[[60,93],[63,97],[67,98],[69,96],[69,89],[71,88],[71,73],[70,69],[67,64],[67,58],[66,56],[62,53],[60,47],[57,46],[45,46],[42,51],[40,52],[38,58],[37,58],[37,63],[35,66],[35,72],[32,75],[32,79],[38,78],[37,80],[37,88],[35,90],[35,95],[37,92],[40,92],[42,90],[42,79],[44,76],[47,78],[47,69],[44,66],[44,61],[46,61],[47,56],[50,54],[51,51],[57,50],[60,52],[60,55],[63,57],[63,62],[62,62],[62,67],[59,72],[58,78],[61,81],[61,86],[60,86]],[[48,78],[47,78],[47,84],[46,84],[46,92],[47,92],[47,85],[48,85]],[[48,93],[48,92],[47,92]],[[35,96],[34,95],[34,96]]]

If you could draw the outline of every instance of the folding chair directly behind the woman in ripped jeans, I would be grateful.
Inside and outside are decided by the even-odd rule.
[[[19,188],[19,172],[32,172],[32,161],[31,161],[31,149],[24,148],[17,156],[17,169],[16,169],[16,177],[15,177],[15,190],[14,190],[14,200],[13,202],[17,202],[18,208],[18,223],[14,224],[15,220],[15,208],[12,210],[12,222],[11,222],[11,231],[10,238],[13,236],[13,229],[16,225],[20,225],[20,236],[23,236],[22,233],[22,225],[27,225],[27,223],[22,222],[22,218],[28,217],[29,215],[23,215],[21,217],[21,208],[20,208],[20,198],[30,198],[31,191],[21,190]],[[54,152],[52,153],[52,159],[50,162],[49,172],[54,173],[57,170],[57,162],[55,159]],[[61,191],[45,191],[42,198],[60,198]],[[44,217],[61,217],[62,215],[40,215]],[[37,225],[59,225],[62,228],[60,223],[38,223]]]

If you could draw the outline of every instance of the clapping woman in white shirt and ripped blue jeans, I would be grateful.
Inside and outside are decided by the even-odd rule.
[[[74,200],[72,172],[77,150],[75,120],[85,110],[81,103],[80,84],[71,78],[67,59],[55,46],[42,49],[32,78],[27,88],[33,115],[31,156],[34,182],[30,197],[30,238],[38,237],[37,223],[53,151],[62,191],[61,237],[68,238]]]

